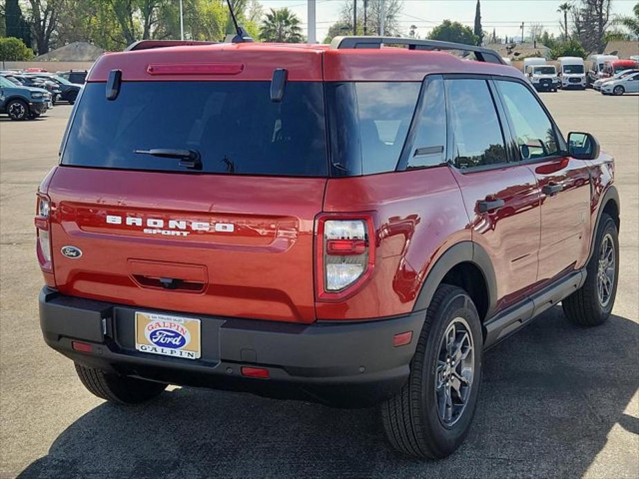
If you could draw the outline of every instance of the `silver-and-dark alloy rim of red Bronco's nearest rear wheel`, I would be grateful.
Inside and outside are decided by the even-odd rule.
[[[437,413],[445,427],[454,425],[466,410],[475,375],[475,343],[468,322],[456,317],[439,342],[435,397]]]

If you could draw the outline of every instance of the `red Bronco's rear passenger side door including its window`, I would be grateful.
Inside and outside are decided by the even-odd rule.
[[[519,300],[537,281],[540,197],[535,175],[509,162],[498,104],[484,78],[446,79],[452,173],[464,197],[473,241],[495,268],[497,309]]]

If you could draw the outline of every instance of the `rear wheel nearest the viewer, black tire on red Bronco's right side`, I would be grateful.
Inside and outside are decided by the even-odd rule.
[[[448,362],[446,338],[451,327],[455,327],[455,349],[462,356],[457,365]],[[457,344],[460,339],[461,347]],[[466,342],[461,341],[465,338]],[[466,349],[464,353],[464,344]],[[472,346],[468,348],[468,346]],[[401,391],[381,405],[381,416],[384,431],[394,449],[408,456],[417,458],[439,459],[450,455],[464,441],[470,423],[473,420],[479,383],[481,382],[481,357],[484,338],[481,333],[481,322],[473,300],[466,291],[457,286],[442,284],[432,297],[426,311],[426,321],[419,335],[417,350],[410,363],[410,375]],[[449,365],[450,364],[450,365]],[[465,391],[466,402],[459,405],[461,395],[460,366],[468,371],[470,368],[470,386]],[[450,371],[455,371],[451,376]],[[448,373],[448,374],[447,374]],[[468,380],[468,372],[464,378]],[[448,377],[447,383],[444,378]],[[450,381],[452,378],[452,381]],[[457,382],[455,386],[446,384]],[[437,385],[441,387],[437,387]],[[450,411],[446,407],[446,390],[455,394],[448,398],[457,400]],[[461,409],[459,409],[461,407]],[[440,418],[440,411],[444,418]],[[450,411],[450,418],[448,418]]]

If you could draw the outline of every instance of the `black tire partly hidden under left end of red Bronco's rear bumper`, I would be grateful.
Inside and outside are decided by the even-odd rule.
[[[128,378],[77,363],[75,371],[90,393],[114,404],[140,404],[157,398],[166,389],[166,384],[162,382]]]

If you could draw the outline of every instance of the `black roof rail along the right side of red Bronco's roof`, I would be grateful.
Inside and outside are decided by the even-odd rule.
[[[506,64],[495,50],[481,46],[465,45],[464,43],[453,43],[452,41],[418,40],[400,37],[335,37],[331,41],[331,48],[381,48],[384,43],[406,45],[408,50],[461,50],[473,52],[477,61]]]

